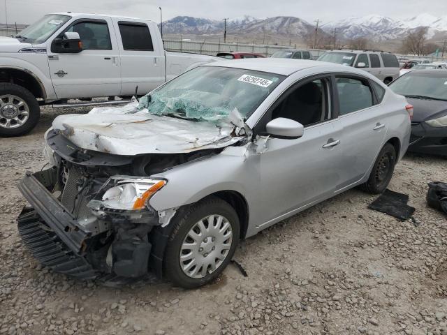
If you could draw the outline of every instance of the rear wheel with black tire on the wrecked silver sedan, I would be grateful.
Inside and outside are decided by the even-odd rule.
[[[372,194],[385,191],[393,177],[395,165],[396,150],[393,144],[386,143],[377,156],[368,181],[362,185],[362,188]]]

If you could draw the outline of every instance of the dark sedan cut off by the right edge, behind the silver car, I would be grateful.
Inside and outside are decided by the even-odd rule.
[[[447,70],[414,70],[390,89],[414,107],[408,151],[447,156]]]

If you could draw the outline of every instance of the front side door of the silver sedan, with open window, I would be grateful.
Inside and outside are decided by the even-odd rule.
[[[260,156],[259,206],[268,220],[265,228],[281,218],[330,198],[340,179],[341,128],[334,118],[330,75],[295,84],[275,103],[256,126],[285,117],[305,126],[298,139],[270,138]]]

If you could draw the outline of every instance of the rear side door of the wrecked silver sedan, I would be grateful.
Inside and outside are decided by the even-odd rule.
[[[373,85],[383,90],[381,96],[376,96]],[[388,128],[386,109],[381,106],[384,93],[383,87],[366,77],[347,74],[335,76],[344,165],[337,191],[343,191],[365,177],[379,154]]]

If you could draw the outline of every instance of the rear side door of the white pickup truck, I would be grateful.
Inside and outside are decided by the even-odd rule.
[[[163,41],[156,24],[145,20],[112,18],[119,54],[123,96],[147,94],[163,84],[165,79],[165,54]]]

